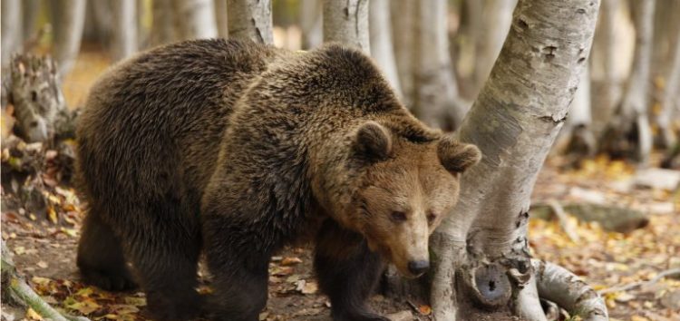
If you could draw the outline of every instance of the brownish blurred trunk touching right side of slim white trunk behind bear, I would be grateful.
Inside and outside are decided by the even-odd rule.
[[[415,9],[413,0],[390,0],[394,58],[402,89],[402,101],[409,109],[413,108],[413,52],[415,51]]]

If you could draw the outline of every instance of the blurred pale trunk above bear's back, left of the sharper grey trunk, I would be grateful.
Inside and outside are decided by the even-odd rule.
[[[180,39],[214,38],[218,35],[212,0],[173,0]]]

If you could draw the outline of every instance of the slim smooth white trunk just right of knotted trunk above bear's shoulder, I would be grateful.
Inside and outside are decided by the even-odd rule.
[[[369,7],[369,28],[371,34],[371,55],[380,69],[383,70],[385,78],[392,85],[393,89],[401,97],[401,86],[399,85],[399,75],[396,71],[394,61],[394,47],[392,45],[392,27],[390,24],[390,3],[389,0],[370,0]]]

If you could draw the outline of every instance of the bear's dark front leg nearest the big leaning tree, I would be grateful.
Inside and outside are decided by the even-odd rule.
[[[367,305],[384,263],[364,237],[326,221],[319,231],[314,260],[319,286],[331,300],[335,321],[388,321]]]

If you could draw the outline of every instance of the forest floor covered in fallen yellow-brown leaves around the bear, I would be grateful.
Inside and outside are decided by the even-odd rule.
[[[83,87],[107,64],[76,65],[74,76],[64,83],[70,105],[82,104]],[[578,169],[567,168],[565,162],[559,156],[549,158],[534,189],[533,204],[616,205],[641,211],[648,224],[618,233],[572,216],[566,221],[530,219],[534,257],[568,268],[599,291],[636,284],[604,294],[612,320],[680,320],[680,279],[649,282],[665,270],[680,268],[680,192],[637,185],[637,170],[622,161],[600,157],[582,161]],[[83,204],[72,187],[57,183],[56,174],[50,169],[42,173],[47,204],[40,212],[18,206],[20,202],[6,188],[11,184],[3,182],[2,238],[14,254],[16,267],[39,295],[69,314],[92,320],[145,320],[141,292],[110,293],[81,283],[75,249]],[[287,248],[273,259],[269,300],[261,320],[329,319],[329,304],[318,291],[311,261],[310,248]],[[209,291],[205,286],[202,290]],[[376,296],[372,304],[385,314],[430,319],[430,307],[419,302]],[[23,308],[3,306],[2,320],[23,317],[36,316]]]

